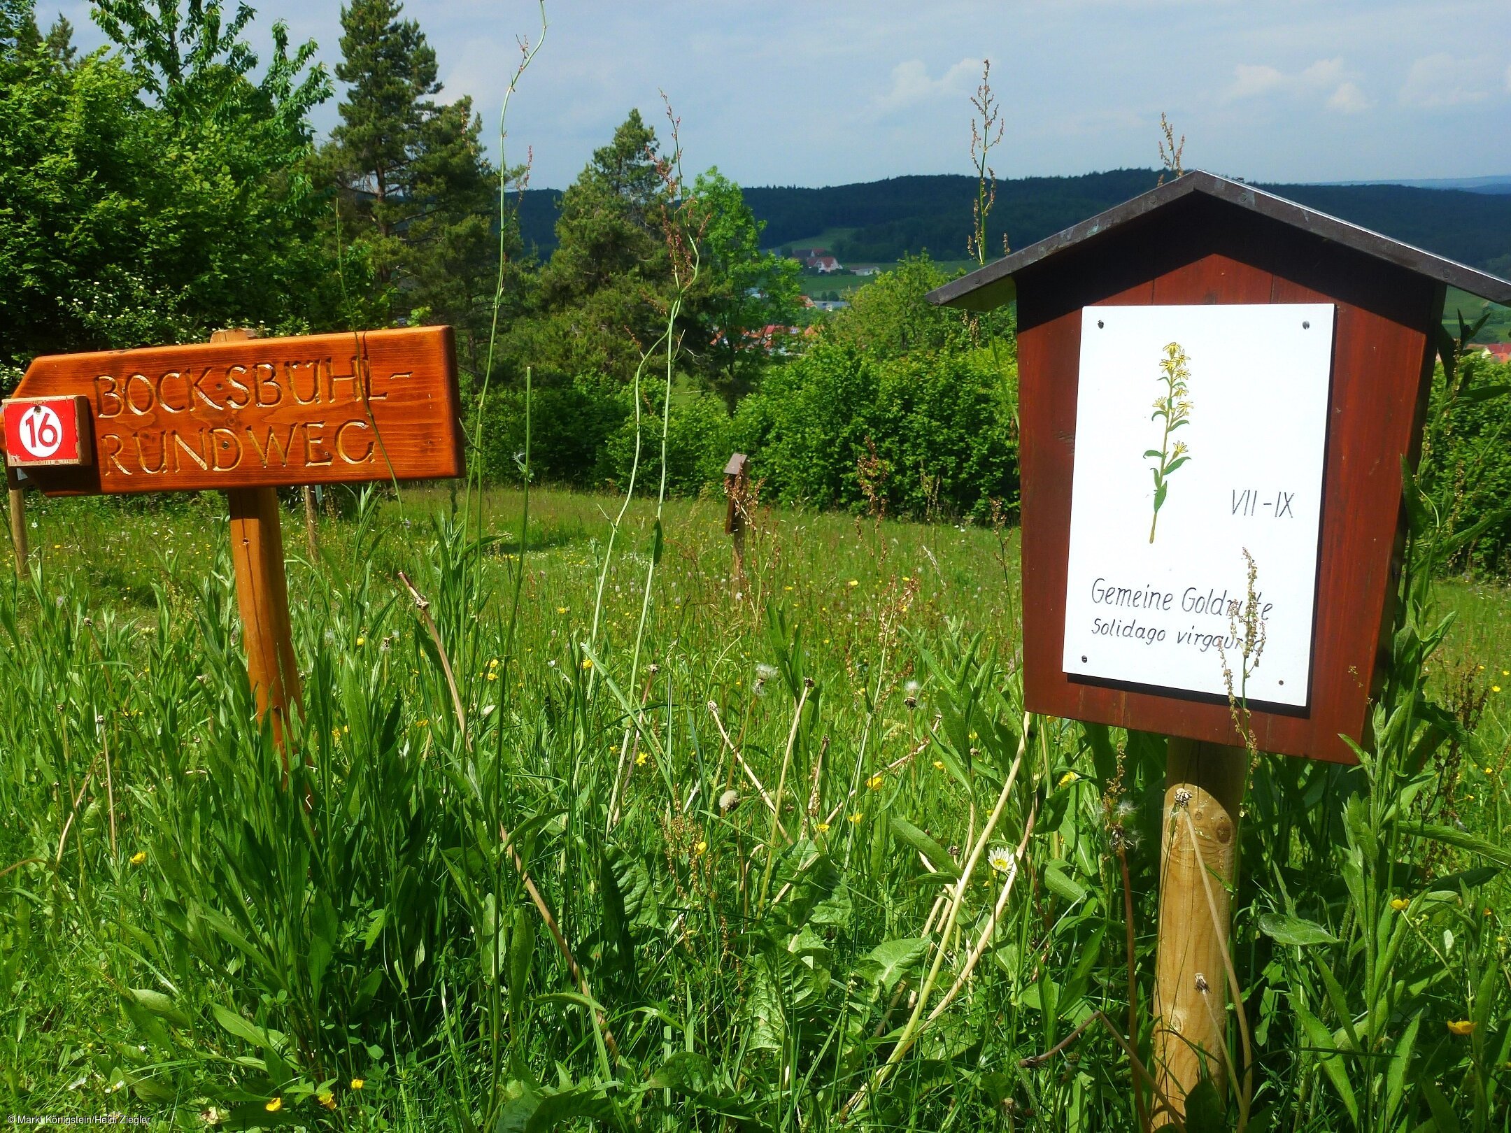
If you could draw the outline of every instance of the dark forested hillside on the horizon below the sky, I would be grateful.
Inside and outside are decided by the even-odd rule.
[[[1000,251],[1003,231],[1014,248],[1023,248],[1153,189],[1157,180],[1154,169],[1112,169],[999,181],[987,248]],[[1511,195],[1399,184],[1262,187],[1440,255],[1511,270]],[[766,224],[762,243],[768,248],[823,239],[842,263],[893,263],[925,249],[938,260],[956,260],[966,255],[975,189],[975,180],[964,175],[891,177],[827,189],[745,189],[745,201]],[[555,189],[536,189],[521,207],[524,242],[541,254],[556,243],[559,198]]]

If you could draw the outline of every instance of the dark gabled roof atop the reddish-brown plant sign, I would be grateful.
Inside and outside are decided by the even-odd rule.
[[[1454,260],[1445,260],[1440,255],[1425,252],[1420,248],[1413,248],[1411,245],[1401,243],[1399,240],[1392,240],[1389,236],[1381,236],[1369,228],[1360,228],[1357,224],[1349,224],[1348,221],[1340,221],[1336,216],[1321,213],[1316,208],[1307,208],[1295,201],[1287,201],[1284,196],[1275,196],[1274,193],[1266,193],[1263,189],[1256,189],[1251,184],[1230,181],[1225,177],[1218,177],[1216,174],[1203,172],[1200,169],[1185,174],[1183,177],[1177,177],[1173,181],[1166,181],[1157,189],[1150,189],[1147,193],[1141,193],[1130,201],[1124,201],[1115,208],[1109,208],[1108,211],[1098,213],[1088,221],[1071,225],[1065,231],[1056,233],[1055,236],[1046,237],[1035,245],[1029,245],[1021,251],[1012,252],[996,263],[978,267],[975,272],[963,275],[959,279],[952,279],[943,287],[929,292],[929,302],[944,307],[961,307],[973,311],[985,311],[993,307],[1000,307],[1015,298],[1012,278],[1018,272],[1032,267],[1034,264],[1038,264],[1040,261],[1047,260],[1073,245],[1095,240],[1114,228],[1120,228],[1129,222],[1145,218],[1150,213],[1174,204],[1176,201],[1191,196],[1192,193],[1203,193],[1206,196],[1238,205],[1239,208],[1247,208],[1293,228],[1312,233],[1324,240],[1334,240],[1366,255],[1372,255],[1377,260],[1384,260],[1386,263],[1405,267],[1407,270],[1425,275],[1438,282],[1460,287],[1470,295],[1481,296],[1482,299],[1490,299],[1497,304],[1511,304],[1511,282],[1490,275],[1488,272],[1467,267],[1466,264],[1455,263]]]

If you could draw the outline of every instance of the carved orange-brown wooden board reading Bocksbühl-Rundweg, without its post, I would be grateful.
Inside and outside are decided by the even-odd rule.
[[[17,397],[89,400],[94,464],[48,494],[441,479],[462,473],[449,326],[36,358]]]

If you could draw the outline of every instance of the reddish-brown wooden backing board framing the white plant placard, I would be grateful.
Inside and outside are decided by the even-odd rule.
[[[1032,712],[1239,743],[1225,699],[1062,671],[1080,308],[1091,304],[1331,302],[1312,687],[1257,705],[1262,751],[1352,763],[1392,616],[1401,461],[1414,459],[1443,289],[1265,216],[1188,198],[1017,276],[1024,699]]]

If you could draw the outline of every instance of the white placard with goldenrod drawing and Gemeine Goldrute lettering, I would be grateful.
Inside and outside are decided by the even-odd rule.
[[[1221,696],[1221,644],[1236,692],[1307,704],[1331,370],[1327,304],[1082,311],[1067,674]]]

